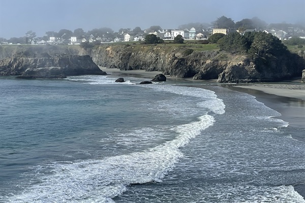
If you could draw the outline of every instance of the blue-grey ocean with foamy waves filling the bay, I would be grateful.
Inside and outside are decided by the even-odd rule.
[[[0,202],[305,202],[305,143],[254,96],[0,78]]]

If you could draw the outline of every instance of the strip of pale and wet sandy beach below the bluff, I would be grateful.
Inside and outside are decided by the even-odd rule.
[[[117,77],[135,77],[143,79],[153,79],[162,72],[146,72],[145,70],[120,71],[119,69],[106,69],[100,67],[102,71],[111,73]],[[193,81],[190,78],[167,77],[167,81]],[[201,87],[201,84],[218,85],[234,91],[239,91],[255,96],[255,99],[265,106],[276,110],[281,114],[277,117],[289,123],[291,127],[304,128],[305,131],[305,84],[300,80],[278,82],[278,83],[241,83],[226,84],[217,83],[216,80],[193,81],[194,84]],[[305,142],[305,134],[300,137],[293,137],[296,140]]]

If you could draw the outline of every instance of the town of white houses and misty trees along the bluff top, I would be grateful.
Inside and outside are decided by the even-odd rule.
[[[25,37],[11,38],[6,40],[0,38],[0,44],[70,44],[77,45],[81,43],[111,43],[111,42],[130,42],[144,41],[145,36],[154,34],[162,40],[174,40],[178,35],[184,40],[207,40],[215,33],[227,35],[230,32],[239,32],[243,35],[249,31],[263,31],[271,33],[281,41],[289,40],[291,37],[299,37],[305,39],[304,27],[290,23],[271,23],[254,17],[252,19],[242,19],[234,22],[231,18],[222,16],[218,18],[214,26],[202,26],[200,23],[189,23],[180,25],[178,29],[162,29],[160,26],[151,26],[145,30],[140,27],[121,28],[118,32],[113,32],[111,28],[103,27],[84,32],[83,29],[77,28],[72,32],[68,29],[59,30],[59,32],[48,31],[44,37],[36,37],[36,32],[28,31]],[[211,24],[209,24],[211,25]]]

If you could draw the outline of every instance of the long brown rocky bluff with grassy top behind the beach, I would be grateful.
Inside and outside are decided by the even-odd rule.
[[[159,71],[171,77],[193,78],[193,80],[217,79],[220,83],[289,80],[301,77],[305,67],[304,58],[294,53],[278,57],[269,56],[267,59],[260,57],[252,59],[247,55],[231,54],[225,51],[198,51],[189,47],[162,45],[103,44],[87,49],[77,45],[13,47],[5,45],[0,46],[0,74],[3,75],[4,71],[1,69],[2,61],[7,60],[7,57],[12,58],[16,53],[36,57],[41,53],[49,55],[66,53],[75,57],[87,55],[86,57],[91,58],[96,65],[110,69]],[[20,58],[20,60],[23,59]],[[57,64],[52,66],[61,67]],[[85,66],[81,67],[85,69]],[[8,70],[7,75],[14,75],[12,74],[14,71],[17,70]],[[86,72],[84,71],[83,74]]]

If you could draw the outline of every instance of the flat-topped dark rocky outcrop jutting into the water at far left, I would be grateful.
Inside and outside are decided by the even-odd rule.
[[[51,68],[52,67],[52,68]],[[55,68],[56,67],[56,68]],[[15,56],[0,60],[1,76],[30,78],[62,78],[75,75],[107,75],[89,55],[57,55],[44,57]],[[57,77],[56,77],[57,76]]]

